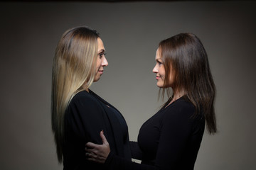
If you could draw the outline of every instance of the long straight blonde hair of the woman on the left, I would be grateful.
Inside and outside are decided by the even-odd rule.
[[[58,162],[63,162],[64,117],[70,100],[88,89],[95,77],[99,34],[87,27],[65,31],[55,49],[52,74],[51,118]]]

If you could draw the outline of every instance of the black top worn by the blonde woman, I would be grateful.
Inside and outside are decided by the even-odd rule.
[[[127,123],[121,113],[92,91],[79,92],[70,101],[65,114],[63,169],[106,169],[102,164],[85,159],[87,142],[102,144],[101,130],[113,153],[131,160]]]

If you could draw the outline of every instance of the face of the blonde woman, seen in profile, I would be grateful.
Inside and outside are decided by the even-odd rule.
[[[108,65],[107,59],[105,57],[105,47],[100,38],[97,38],[98,50],[97,50],[97,62],[96,62],[96,72],[93,81],[98,81],[103,74],[104,67]]]

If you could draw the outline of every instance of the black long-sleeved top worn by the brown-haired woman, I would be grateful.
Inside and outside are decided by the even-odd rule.
[[[142,164],[124,160],[110,152],[105,166],[114,169],[186,169],[196,162],[205,120],[200,113],[193,117],[195,107],[183,97],[161,108],[142,125],[138,142],[131,142],[132,157]]]

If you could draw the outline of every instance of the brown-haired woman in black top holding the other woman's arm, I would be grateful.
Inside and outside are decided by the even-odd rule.
[[[215,84],[206,50],[196,35],[181,33],[159,43],[155,60],[156,86],[171,95],[132,142],[132,157],[142,164],[114,154],[103,132],[103,145],[87,143],[88,160],[114,170],[193,170],[205,123],[210,134],[216,132]]]

